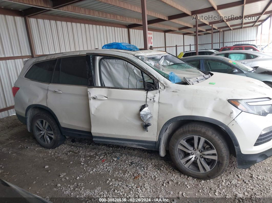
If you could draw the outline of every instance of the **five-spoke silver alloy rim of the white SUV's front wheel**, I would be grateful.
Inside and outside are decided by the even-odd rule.
[[[217,151],[210,141],[191,135],[183,138],[177,147],[180,162],[189,170],[205,173],[217,163]]]

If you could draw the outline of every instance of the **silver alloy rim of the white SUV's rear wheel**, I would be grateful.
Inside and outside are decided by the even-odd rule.
[[[36,136],[45,144],[50,144],[54,138],[53,130],[50,124],[43,120],[39,119],[35,124]]]

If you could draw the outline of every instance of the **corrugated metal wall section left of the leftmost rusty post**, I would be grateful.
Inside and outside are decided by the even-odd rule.
[[[24,18],[0,15],[0,57],[31,55]],[[12,87],[23,67],[23,61],[0,61],[0,109],[14,105]],[[1,112],[0,118],[14,114],[14,109]]]

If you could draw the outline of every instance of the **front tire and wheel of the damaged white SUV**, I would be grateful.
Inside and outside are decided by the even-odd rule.
[[[224,137],[211,125],[183,125],[171,137],[171,158],[178,169],[197,179],[212,179],[228,166],[230,152]]]

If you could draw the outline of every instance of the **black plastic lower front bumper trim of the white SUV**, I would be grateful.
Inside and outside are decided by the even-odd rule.
[[[261,162],[272,156],[272,148],[258,154],[242,154],[237,155],[237,168],[247,169],[255,163]]]

